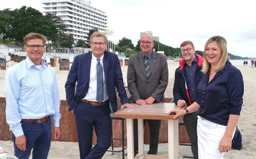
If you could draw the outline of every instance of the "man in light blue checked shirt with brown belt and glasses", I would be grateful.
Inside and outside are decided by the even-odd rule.
[[[27,58],[5,72],[6,122],[18,159],[28,159],[32,149],[33,159],[47,159],[51,140],[61,134],[56,74],[41,59],[45,36],[29,33],[23,40]]]

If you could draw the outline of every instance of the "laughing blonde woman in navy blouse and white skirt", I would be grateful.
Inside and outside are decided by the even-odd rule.
[[[244,83],[241,72],[231,65],[224,37],[210,37],[204,47],[204,73],[198,85],[198,99],[183,110],[171,110],[178,116],[198,110],[199,159],[223,159],[231,150],[231,140],[243,103]]]

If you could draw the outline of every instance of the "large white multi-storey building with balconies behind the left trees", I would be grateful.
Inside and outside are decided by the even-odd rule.
[[[89,30],[97,28],[105,32],[107,28],[107,14],[93,6],[91,1],[85,0],[41,0],[45,9],[43,13],[60,16],[72,31],[74,42],[86,40]]]

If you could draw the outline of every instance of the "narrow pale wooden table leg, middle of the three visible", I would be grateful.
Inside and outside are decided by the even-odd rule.
[[[138,155],[144,159],[144,124],[143,119],[138,119]]]

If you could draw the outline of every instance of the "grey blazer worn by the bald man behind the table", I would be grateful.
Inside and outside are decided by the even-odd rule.
[[[134,101],[153,97],[156,102],[164,102],[164,92],[168,84],[166,57],[152,52],[147,77],[142,52],[132,55],[129,58],[127,83]]]

